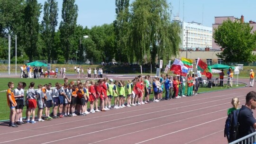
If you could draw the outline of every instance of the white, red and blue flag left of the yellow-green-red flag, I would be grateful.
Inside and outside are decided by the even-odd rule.
[[[170,71],[174,71],[174,74],[186,76],[188,68],[184,66],[181,60],[175,59]]]

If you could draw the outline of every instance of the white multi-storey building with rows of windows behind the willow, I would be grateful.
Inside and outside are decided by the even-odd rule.
[[[201,23],[184,22],[179,17],[174,17],[172,22],[181,26],[182,50],[202,50],[212,47],[212,27],[202,26]]]

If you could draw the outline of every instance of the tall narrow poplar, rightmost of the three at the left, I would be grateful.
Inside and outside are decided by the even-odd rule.
[[[73,35],[76,27],[78,7],[74,3],[75,0],[63,0],[62,5],[62,21],[60,22],[61,44],[66,63],[69,60],[69,53],[75,46],[72,45]]]

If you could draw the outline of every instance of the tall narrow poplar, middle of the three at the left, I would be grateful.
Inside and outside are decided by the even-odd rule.
[[[55,28],[58,24],[58,2],[56,0],[47,0],[44,5],[44,17],[42,20],[42,38],[46,45],[48,63],[54,61],[56,57],[52,51],[56,51],[55,43]]]

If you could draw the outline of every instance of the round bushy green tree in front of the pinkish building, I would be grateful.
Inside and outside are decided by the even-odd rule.
[[[224,21],[214,29],[215,43],[224,49],[216,55],[224,62],[256,61],[256,57],[252,55],[256,47],[256,33],[251,33],[252,28],[248,23],[232,22],[230,19]]]

